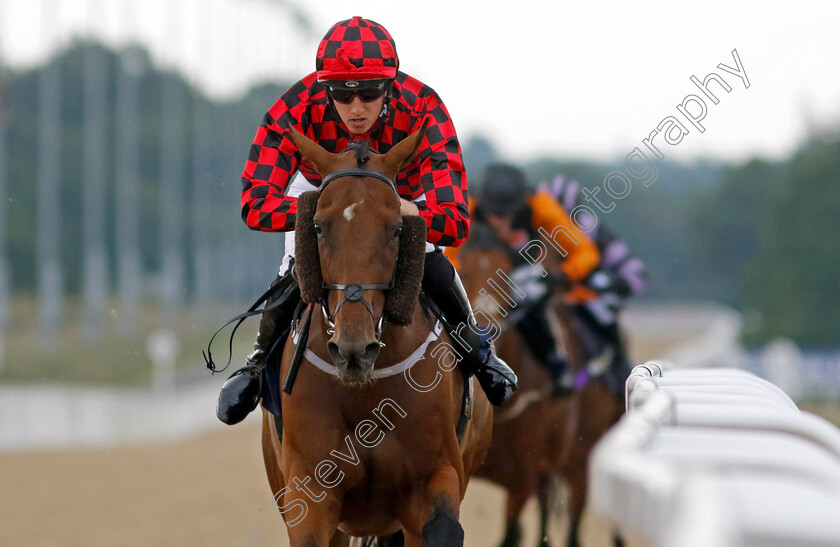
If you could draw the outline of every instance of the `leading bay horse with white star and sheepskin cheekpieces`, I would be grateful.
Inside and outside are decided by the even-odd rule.
[[[294,325],[282,356],[287,378],[303,350],[281,397],[282,433],[263,409],[263,459],[289,540],[463,545],[460,503],[489,447],[492,408],[470,379],[459,440],[465,380],[446,332],[417,305],[426,224],[401,217],[393,180],[425,124],[385,154],[361,144],[331,154],[289,129],[323,177],[297,202],[295,272],[310,320]]]

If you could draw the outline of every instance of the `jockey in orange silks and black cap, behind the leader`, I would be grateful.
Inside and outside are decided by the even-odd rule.
[[[511,277],[527,295],[520,304],[524,315],[516,322],[517,330],[551,374],[554,395],[571,395],[575,373],[558,352],[548,320],[547,301],[556,289],[562,290],[567,300],[594,298],[592,291],[582,290],[581,283],[598,266],[601,258],[598,247],[572,225],[567,210],[551,194],[544,190],[534,192],[524,173],[516,167],[490,165],[480,182],[478,198],[471,203],[473,221],[489,225],[496,237],[510,245],[516,268]],[[554,241],[566,252],[565,258],[546,276],[520,252],[532,241],[545,241],[540,229],[553,234]],[[457,263],[458,249],[447,249],[446,253]]]

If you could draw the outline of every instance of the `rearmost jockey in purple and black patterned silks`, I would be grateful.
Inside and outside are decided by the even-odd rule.
[[[562,175],[541,182],[539,189],[554,196],[567,211],[581,205],[580,184]],[[619,314],[629,298],[647,289],[647,269],[603,222],[593,217],[584,224],[591,227],[588,235],[601,252],[598,267],[583,281],[583,286],[596,296],[578,300],[571,309],[580,327],[587,360],[607,358],[602,380],[611,391],[623,397],[632,363],[621,334]]]

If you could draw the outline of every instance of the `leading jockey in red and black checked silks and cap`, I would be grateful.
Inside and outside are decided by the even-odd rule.
[[[365,140],[379,153],[428,121],[416,156],[395,183],[403,215],[419,215],[428,226],[423,291],[447,322],[461,329],[471,348],[461,364],[476,376],[488,399],[500,405],[516,389],[517,378],[496,357],[475,325],[472,307],[442,247],[460,245],[469,232],[467,176],[449,113],[429,86],[398,71],[399,60],[384,27],[361,17],[333,25],[315,60],[316,71],[290,87],[265,115],[242,173],[242,218],[249,228],[286,232],[285,257],[272,285],[277,298],[266,302],[254,352],[245,367],[222,386],[216,408],[227,424],[242,421],[260,400],[266,357],[289,333],[300,291],[292,276],[296,197],[317,189],[320,175],[304,159],[287,127],[294,126],[330,152]],[[272,409],[270,409],[272,410]],[[275,409],[279,413],[279,407]]]

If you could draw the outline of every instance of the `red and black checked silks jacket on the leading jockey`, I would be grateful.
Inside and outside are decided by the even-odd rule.
[[[351,140],[370,139],[384,154],[429,120],[426,137],[411,162],[397,175],[400,196],[416,201],[428,226],[427,240],[457,246],[469,232],[467,175],[455,127],[443,102],[430,87],[397,72],[379,120],[365,134],[353,135],[341,122],[316,73],[289,88],[266,113],[251,145],[242,173],[242,218],[254,230],[285,232],[295,228],[296,200],[285,195],[295,172],[318,186],[320,176],[292,142],[284,126],[330,152],[341,152]],[[425,200],[425,201],[422,201]]]

